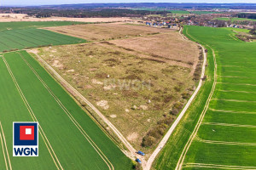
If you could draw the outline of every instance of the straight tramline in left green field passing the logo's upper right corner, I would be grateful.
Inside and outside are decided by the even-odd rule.
[[[4,57],[2,57],[2,58],[3,58],[3,61],[4,61],[5,65],[6,65],[8,71],[9,71],[10,76],[12,77],[12,79],[13,79],[13,81],[14,81],[14,83],[15,83],[15,86],[16,86],[16,88],[17,88],[19,94],[20,94],[21,99],[23,100],[24,104],[26,105],[26,109],[29,111],[30,116],[32,116],[32,120],[33,120],[34,122],[38,122],[38,119],[37,119],[37,117],[34,115],[34,113],[33,113],[33,111],[32,111],[32,108],[31,108],[30,105],[28,104],[25,95],[22,93],[22,91],[21,91],[21,89],[20,89],[20,86],[19,86],[18,82],[17,82],[16,79],[15,79],[14,74],[13,74],[13,72],[11,71],[11,69],[10,69],[10,67],[9,67],[8,62],[6,61],[6,59],[5,59]],[[53,148],[52,148],[51,145],[49,144],[49,140],[47,139],[47,137],[46,137],[46,135],[45,135],[45,133],[44,133],[44,131],[43,131],[43,128],[41,127],[40,124],[38,125],[38,127],[39,127],[39,133],[41,134],[42,138],[43,138],[43,139],[45,138],[45,139],[44,139],[44,144],[46,145],[47,149],[49,150],[49,154],[50,154],[50,156],[52,157],[53,161],[55,162],[55,166],[57,167],[57,169],[60,169],[60,168],[61,168],[61,170],[63,170],[63,167],[61,166],[60,161],[58,160],[57,156],[55,155],[55,151],[53,150]],[[49,145],[48,145],[48,144],[49,144]],[[51,151],[52,151],[53,153],[51,153]],[[54,158],[54,156],[55,156],[55,158]],[[56,160],[55,160],[55,159],[56,159]],[[57,163],[58,163],[59,165],[57,165],[56,161],[57,161]],[[60,166],[60,167],[59,167],[59,166]]]

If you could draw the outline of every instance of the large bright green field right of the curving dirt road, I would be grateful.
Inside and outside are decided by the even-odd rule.
[[[212,50],[216,54],[217,84],[209,108],[183,161],[183,169],[256,168],[256,43],[242,42],[226,28],[185,26],[183,33],[208,49],[212,80]],[[211,47],[211,48],[210,48]],[[210,83],[211,82],[211,83]],[[154,163],[174,169],[212,88],[205,83],[183,122]],[[229,167],[235,166],[235,167]]]

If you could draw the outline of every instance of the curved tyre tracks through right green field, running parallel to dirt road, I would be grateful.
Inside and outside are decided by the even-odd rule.
[[[186,30],[186,33],[189,35],[188,29]],[[197,41],[195,37],[192,37],[191,35],[189,35],[189,37],[191,37],[191,38],[193,38],[195,41]],[[198,41],[197,41],[197,42],[198,42]],[[209,48],[211,48],[209,45],[207,45],[207,46],[208,46]],[[211,48],[211,49],[212,49],[212,48]],[[205,114],[206,114],[206,112],[207,112],[208,106],[209,106],[210,101],[211,101],[211,99],[212,99],[212,95],[213,95],[213,93],[214,93],[214,91],[215,91],[216,82],[217,82],[217,76],[216,76],[216,75],[217,75],[217,62],[216,62],[216,57],[215,57],[215,53],[214,53],[214,50],[213,50],[213,49],[212,49],[212,55],[213,55],[213,61],[214,61],[214,76],[213,76],[212,90],[211,90],[211,93],[210,93],[209,96],[208,96],[207,103],[206,103],[206,105],[205,105],[205,107],[204,107],[204,110],[202,111],[201,116],[200,116],[200,118],[199,118],[197,124],[195,125],[195,129],[194,129],[193,133],[191,133],[187,144],[186,144],[185,147],[183,148],[183,152],[182,152],[182,154],[181,154],[179,160],[177,161],[177,166],[175,167],[175,170],[181,170],[181,169],[182,169],[182,167],[183,167],[183,161],[184,161],[184,159],[185,159],[185,156],[186,156],[186,154],[187,154],[187,152],[188,152],[188,150],[189,150],[190,145],[192,144],[193,139],[195,139],[196,133],[198,132],[199,127],[201,126],[201,122],[202,122],[202,120],[203,120],[203,118],[204,118],[204,116],[205,116]]]

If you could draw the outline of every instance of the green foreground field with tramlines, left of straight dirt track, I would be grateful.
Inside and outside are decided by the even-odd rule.
[[[0,169],[100,170],[132,166],[96,122],[26,51],[1,54],[0,70]],[[39,156],[13,157],[13,122],[33,121],[42,127]]]

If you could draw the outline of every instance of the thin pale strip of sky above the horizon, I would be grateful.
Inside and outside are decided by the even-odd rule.
[[[1,6],[72,3],[256,3],[256,0],[0,0]]]

